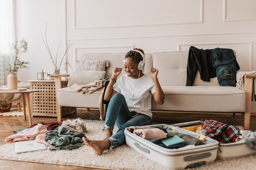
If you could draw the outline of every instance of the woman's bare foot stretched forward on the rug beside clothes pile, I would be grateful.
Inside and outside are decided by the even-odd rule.
[[[110,141],[105,140],[89,140],[85,137],[82,138],[86,146],[93,148],[94,154],[101,155],[106,149],[110,148]]]

